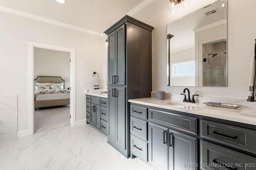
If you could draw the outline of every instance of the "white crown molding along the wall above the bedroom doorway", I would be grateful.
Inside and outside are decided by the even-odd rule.
[[[77,27],[77,26],[74,26],[74,25],[70,25],[68,23],[64,23],[64,22],[60,22],[60,21],[56,21],[56,20],[51,20],[49,18],[44,18],[44,17],[41,17],[41,16],[37,16],[37,15],[30,14],[30,13],[27,13],[27,12],[23,12],[23,11],[20,11],[20,10],[15,10],[15,9],[8,8],[8,7],[5,7],[5,6],[0,6],[0,11],[7,12],[7,13],[10,13],[10,14],[14,14],[14,15],[17,15],[17,16],[22,16],[22,17],[25,17],[25,18],[30,18],[32,20],[37,20],[37,21],[50,23],[50,24],[53,24],[53,25],[58,25],[60,27],[74,29],[76,31],[81,31],[81,32],[84,32],[84,33],[89,33],[89,34],[97,35],[97,36],[100,36],[100,37],[103,37],[105,35],[104,33],[99,33],[99,32],[96,32],[96,31],[92,31],[90,29],[85,29],[85,28],[82,28],[82,27]]]

